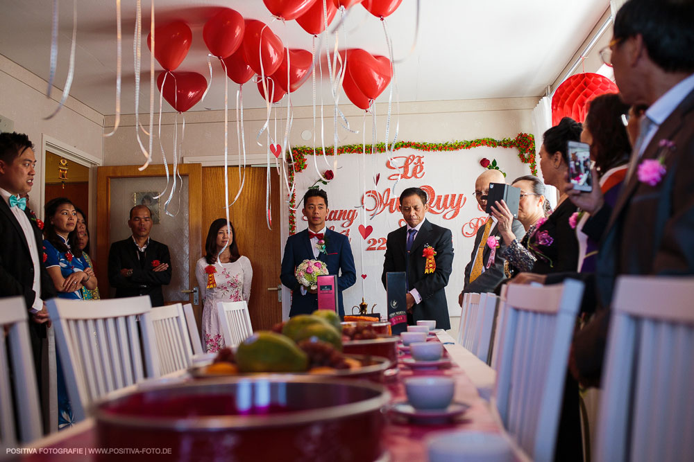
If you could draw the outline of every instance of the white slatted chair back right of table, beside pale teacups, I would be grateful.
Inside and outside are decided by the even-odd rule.
[[[555,454],[569,347],[583,283],[511,285],[498,352],[494,400],[509,433],[530,457]]]

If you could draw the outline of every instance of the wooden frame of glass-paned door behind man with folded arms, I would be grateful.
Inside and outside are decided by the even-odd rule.
[[[96,216],[98,218],[96,225],[96,275],[99,277],[99,292],[103,298],[108,298],[110,287],[108,283],[108,250],[110,249],[110,242],[112,241],[112,236],[110,236],[111,229],[111,208],[117,204],[121,206],[125,202],[133,201],[133,197],[123,197],[122,195],[112,195],[112,181],[119,179],[146,179],[146,178],[160,178],[166,177],[166,171],[163,165],[153,165],[146,168],[144,171],[138,170],[139,166],[115,166],[115,167],[99,167],[97,170],[97,195],[96,195]],[[169,166],[169,173],[173,172],[173,166]],[[188,188],[188,217],[187,217],[187,234],[188,242],[187,247],[189,249],[189,255],[187,256],[188,263],[188,289],[193,289],[198,285],[195,278],[195,264],[198,258],[200,258],[202,245],[201,245],[201,202],[203,202],[203,195],[201,193],[202,184],[202,168],[199,163],[185,163],[178,166],[178,172],[181,177],[187,177],[187,188]],[[128,203],[126,208],[129,210],[132,204]],[[127,213],[124,216],[118,217],[118,220],[123,220],[125,223],[128,220]],[[168,217],[164,216],[164,211],[161,211],[161,220],[178,220],[185,226],[185,217]],[[207,230],[205,230],[206,233]],[[92,236],[94,236],[92,234]],[[116,237],[117,239],[122,239],[123,237]],[[177,242],[164,242],[169,246],[169,252],[172,254],[172,260],[174,259],[174,252],[180,249],[177,247]],[[93,247],[92,247],[93,248]],[[184,259],[185,261],[185,259]],[[173,263],[173,261],[172,261]],[[174,271],[176,271],[176,265],[174,265]],[[186,295],[181,294],[185,297]],[[164,296],[166,299],[166,296]],[[178,303],[178,301],[174,302]],[[182,303],[186,303],[183,301]],[[198,321],[198,326],[201,322],[201,304],[196,305],[194,303],[194,294],[190,293],[188,298],[188,303],[193,303],[194,311],[196,313],[196,320]]]

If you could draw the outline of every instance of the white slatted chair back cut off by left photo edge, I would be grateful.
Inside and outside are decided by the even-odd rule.
[[[0,454],[6,454],[8,448],[17,447],[18,441],[29,443],[42,435],[27,319],[26,306],[21,296],[0,299]],[[7,336],[3,326],[8,326]],[[10,347],[9,351],[6,344]],[[18,424],[16,429],[15,422]]]

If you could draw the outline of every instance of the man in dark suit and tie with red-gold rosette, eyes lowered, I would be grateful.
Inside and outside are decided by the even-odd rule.
[[[453,264],[453,237],[450,229],[425,220],[427,193],[407,188],[400,194],[400,211],[407,225],[388,234],[381,281],[386,287],[389,272],[407,272],[407,323],[435,320],[439,329],[450,329],[446,285]],[[429,272],[425,247],[435,252],[435,268]]]

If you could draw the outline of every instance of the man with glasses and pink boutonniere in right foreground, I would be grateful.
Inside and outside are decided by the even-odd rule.
[[[577,332],[569,361],[584,384],[600,381],[616,278],[694,274],[692,24],[692,3],[672,1],[627,1],[614,21],[609,50],[616,83],[625,103],[649,106],[644,116],[649,120],[641,123],[614,208],[604,204],[600,188],[581,193],[566,186],[570,200],[591,213],[584,233],[598,240],[602,236],[597,272],[550,275],[539,281],[557,283],[578,276],[589,283],[586,293],[597,296],[598,312]],[[644,169],[649,161],[665,168],[661,175],[650,175],[650,183]],[[593,173],[593,184],[598,184],[596,178]],[[591,293],[591,287],[596,291]]]

